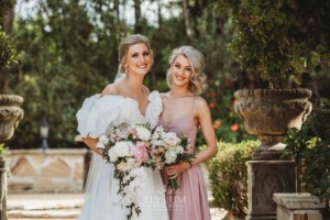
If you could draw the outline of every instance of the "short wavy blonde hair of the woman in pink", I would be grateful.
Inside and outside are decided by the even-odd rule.
[[[172,85],[172,67],[173,64],[179,55],[185,56],[186,58],[189,59],[190,65],[193,66],[193,75],[191,75],[191,80],[189,81],[189,90],[193,91],[194,94],[201,94],[205,88],[206,88],[206,75],[204,73],[204,67],[205,67],[205,58],[204,55],[196,50],[193,46],[182,46],[178,48],[173,50],[170,56],[169,56],[169,69],[167,70],[167,85],[170,88]]]

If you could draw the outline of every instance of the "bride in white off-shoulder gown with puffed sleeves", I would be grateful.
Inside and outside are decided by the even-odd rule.
[[[119,183],[113,178],[114,167],[102,160],[97,148],[98,138],[113,127],[125,129],[131,124],[158,123],[162,99],[157,91],[150,92],[143,78],[153,64],[147,38],[130,35],[119,45],[119,79],[108,85],[101,95],[87,98],[77,112],[78,131],[94,151],[86,186],[85,205],[79,220],[124,220],[128,209],[121,206]],[[138,191],[141,213],[135,219],[167,220],[164,187],[158,170],[143,168],[145,179]]]

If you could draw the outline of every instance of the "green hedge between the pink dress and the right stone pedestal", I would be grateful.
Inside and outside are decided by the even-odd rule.
[[[248,208],[246,161],[258,141],[219,143],[218,154],[208,162],[213,205],[243,217]]]

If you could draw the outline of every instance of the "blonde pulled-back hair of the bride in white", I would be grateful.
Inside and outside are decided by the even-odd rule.
[[[148,52],[151,53],[152,63],[153,63],[153,52],[151,50],[147,37],[144,35],[140,35],[140,34],[129,35],[129,36],[124,37],[123,40],[121,40],[119,47],[118,47],[118,61],[119,61],[118,74],[125,74],[124,63],[127,59],[127,55],[128,55],[130,46],[135,45],[135,44],[145,44],[146,45]]]

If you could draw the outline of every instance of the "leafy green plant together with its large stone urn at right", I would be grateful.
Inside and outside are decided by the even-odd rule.
[[[235,91],[237,110],[261,145],[253,160],[278,160],[289,128],[300,129],[311,111],[309,89],[290,88],[304,72],[330,66],[330,10],[326,1],[218,0],[231,11],[238,33],[229,44],[242,67],[267,88]]]

